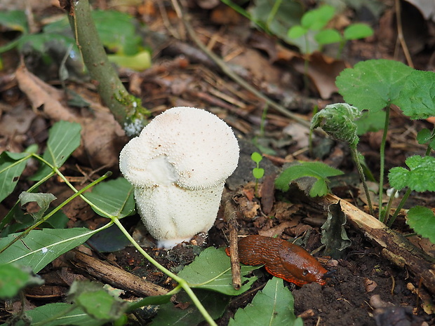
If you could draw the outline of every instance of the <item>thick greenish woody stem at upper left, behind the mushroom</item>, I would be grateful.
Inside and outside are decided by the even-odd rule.
[[[77,46],[91,78],[96,81],[102,102],[109,108],[116,121],[123,127],[128,123],[126,107],[116,96],[128,94],[114,67],[107,59],[91,16],[88,0],[69,0],[73,15],[69,15]]]

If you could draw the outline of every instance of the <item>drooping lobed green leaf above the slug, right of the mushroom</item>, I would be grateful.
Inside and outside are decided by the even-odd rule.
[[[276,178],[275,186],[281,191],[290,189],[290,182],[300,177],[314,177],[317,179],[312,187],[309,195],[324,196],[328,193],[328,177],[334,175],[342,175],[343,172],[321,162],[303,162],[301,164],[292,165],[286,170],[283,170],[281,175]]]

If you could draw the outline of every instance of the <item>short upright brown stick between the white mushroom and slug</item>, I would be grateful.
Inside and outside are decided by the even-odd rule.
[[[239,290],[241,287],[240,262],[239,262],[239,243],[237,240],[237,232],[239,224],[237,223],[236,208],[232,203],[232,199],[228,199],[225,203],[225,220],[228,223],[229,229],[229,260],[231,262],[231,273],[233,287]]]

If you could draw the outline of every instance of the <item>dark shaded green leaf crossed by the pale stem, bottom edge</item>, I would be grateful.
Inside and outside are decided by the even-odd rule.
[[[229,299],[231,298],[224,294],[206,290],[195,289],[194,292],[213,319],[222,316],[228,306]],[[171,302],[159,306],[159,311],[150,326],[192,326],[198,325],[204,320],[203,315],[199,312],[198,308],[196,308],[185,292],[177,294],[177,301],[183,303],[189,302],[189,306],[182,309],[174,306]]]

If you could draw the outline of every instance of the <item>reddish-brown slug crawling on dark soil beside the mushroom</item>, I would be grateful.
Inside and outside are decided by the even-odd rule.
[[[225,250],[229,256],[229,247]],[[295,285],[325,285],[326,269],[304,248],[279,238],[246,236],[239,240],[239,259],[245,265],[265,265],[266,271]]]

